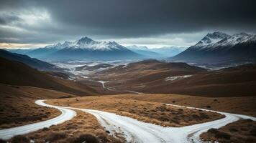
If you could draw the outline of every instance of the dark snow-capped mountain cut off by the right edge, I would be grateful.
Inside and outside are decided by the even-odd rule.
[[[256,61],[255,34],[228,35],[221,32],[207,34],[194,46],[171,58],[195,63],[225,63]]]

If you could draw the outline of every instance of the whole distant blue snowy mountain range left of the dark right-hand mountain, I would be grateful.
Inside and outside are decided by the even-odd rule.
[[[17,54],[27,54],[38,59],[151,59],[175,56],[184,51],[183,46],[147,48],[147,46],[122,46],[115,41],[94,41],[87,36],[74,42],[52,44],[37,49],[6,49]]]

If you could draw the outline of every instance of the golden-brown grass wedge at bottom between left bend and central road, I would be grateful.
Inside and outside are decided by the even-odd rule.
[[[35,142],[124,142],[122,137],[111,137],[91,114],[77,111],[77,116],[63,124],[26,134],[24,137]]]

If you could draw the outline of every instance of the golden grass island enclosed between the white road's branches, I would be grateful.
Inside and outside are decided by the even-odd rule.
[[[70,99],[52,99],[49,104],[84,109],[97,109],[113,112],[142,122],[159,124],[163,127],[183,127],[191,124],[209,122],[224,117],[213,112],[196,109],[171,107],[157,102],[145,102],[133,99],[118,99],[111,96],[79,97]]]

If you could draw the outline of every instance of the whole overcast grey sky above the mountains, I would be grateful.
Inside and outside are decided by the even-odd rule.
[[[190,46],[207,33],[256,32],[254,0],[0,0],[0,46],[88,36],[123,45]]]

